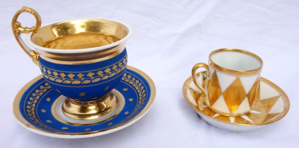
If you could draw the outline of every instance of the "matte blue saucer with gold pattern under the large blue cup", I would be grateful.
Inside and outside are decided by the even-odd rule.
[[[18,92],[13,102],[13,112],[21,126],[40,135],[56,138],[95,137],[126,128],[142,118],[154,101],[155,86],[147,74],[128,66],[112,93],[121,102],[116,112],[105,119],[80,122],[63,115],[61,107],[57,106],[66,97],[51,88],[39,75]]]

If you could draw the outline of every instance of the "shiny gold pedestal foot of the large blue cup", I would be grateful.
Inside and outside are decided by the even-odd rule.
[[[119,103],[119,99],[112,92],[100,99],[88,102],[66,98],[62,104],[62,112],[72,119],[91,120],[113,113]]]

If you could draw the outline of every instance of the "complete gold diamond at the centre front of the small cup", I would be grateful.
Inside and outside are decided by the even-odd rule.
[[[228,86],[228,88],[223,92],[223,97],[230,112],[235,112],[246,97],[246,92],[243,88],[240,77],[237,77],[237,79]]]

